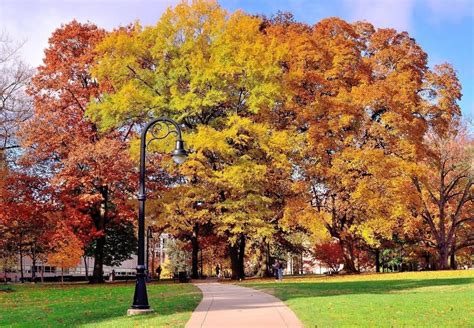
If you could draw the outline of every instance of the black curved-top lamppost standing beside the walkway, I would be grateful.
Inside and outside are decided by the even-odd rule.
[[[152,138],[146,140],[148,131]],[[140,177],[138,191],[138,264],[137,264],[137,282],[135,285],[135,294],[133,296],[132,308],[128,310],[128,315],[141,314],[153,311],[148,304],[148,295],[146,292],[146,266],[145,266],[145,155],[146,147],[154,140],[162,140],[170,134],[176,135],[176,147],[171,153],[173,160],[181,164],[186,160],[187,152],[184,149],[184,142],[181,137],[181,129],[175,121],[160,117],[148,123],[142,131],[140,144]]]

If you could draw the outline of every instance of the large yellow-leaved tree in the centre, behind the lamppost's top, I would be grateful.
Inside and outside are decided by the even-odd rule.
[[[193,153],[179,172],[185,184],[166,196],[172,204],[161,209],[161,225],[187,230],[193,241],[211,224],[228,240],[234,277],[243,276],[249,237],[274,232],[281,205],[268,181],[284,185],[291,175],[291,133],[272,131],[265,120],[283,101],[285,48],[261,24],[214,1],[195,1],[169,9],[153,27],[118,29],[98,46],[93,69],[114,92],[88,108],[103,130],[133,133],[158,116],[187,128]],[[198,200],[205,211],[194,209]]]

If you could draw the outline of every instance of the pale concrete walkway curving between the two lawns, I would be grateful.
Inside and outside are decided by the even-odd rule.
[[[196,284],[203,299],[186,328],[303,327],[296,315],[276,297],[231,284]]]

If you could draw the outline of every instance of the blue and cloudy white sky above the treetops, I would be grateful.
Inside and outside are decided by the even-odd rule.
[[[41,63],[49,35],[72,19],[106,29],[135,20],[154,24],[176,0],[0,0],[0,32],[25,41],[24,59]],[[221,0],[230,11],[252,14],[292,12],[314,24],[337,16],[349,22],[367,20],[376,27],[408,31],[428,53],[429,65],[449,62],[463,85],[461,108],[474,119],[474,0]]]

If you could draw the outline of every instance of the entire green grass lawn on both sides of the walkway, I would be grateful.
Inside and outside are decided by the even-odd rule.
[[[307,327],[474,327],[474,271],[249,280]],[[191,284],[148,285],[151,315],[127,317],[134,284],[0,286],[0,326],[183,327],[201,299]]]

